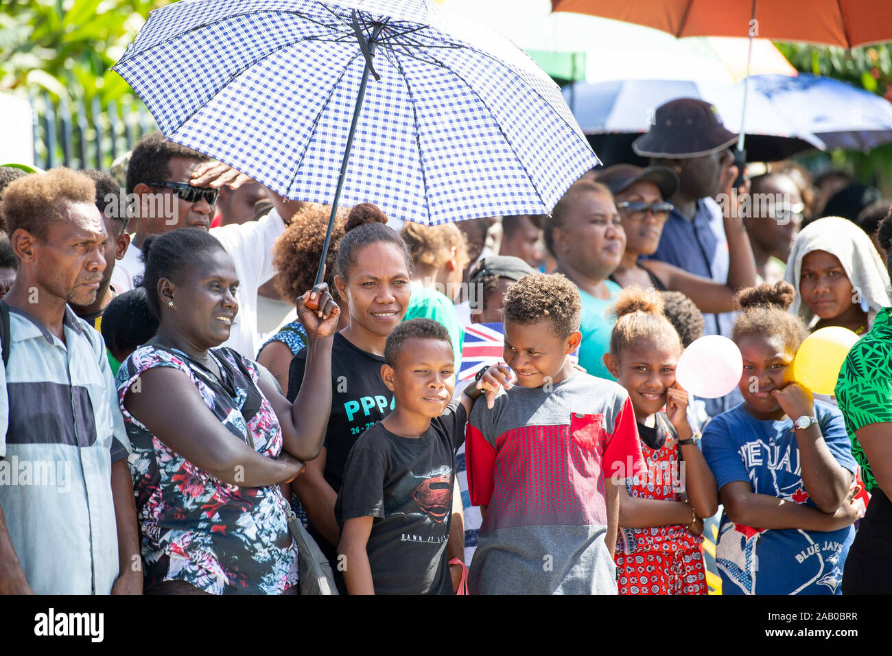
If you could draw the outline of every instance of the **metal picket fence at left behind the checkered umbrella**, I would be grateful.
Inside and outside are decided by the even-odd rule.
[[[111,169],[111,162],[136,145],[155,127],[152,114],[137,100],[124,97],[104,107],[55,102],[49,95],[32,95],[34,163],[41,169]]]

